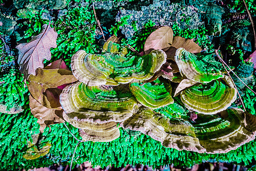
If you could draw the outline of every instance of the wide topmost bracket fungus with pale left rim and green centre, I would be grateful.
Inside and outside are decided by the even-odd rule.
[[[105,53],[87,54],[80,50],[72,56],[71,68],[74,76],[88,86],[126,84],[132,80],[152,78],[166,62],[162,50],[153,50],[144,56],[124,56]]]

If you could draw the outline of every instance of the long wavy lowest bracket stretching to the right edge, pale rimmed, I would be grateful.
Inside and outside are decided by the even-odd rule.
[[[197,123],[181,119],[166,119],[152,109],[139,107],[121,127],[140,131],[162,145],[177,150],[199,153],[226,153],[255,139],[255,132],[245,128],[243,111],[227,109],[226,117],[200,115]]]

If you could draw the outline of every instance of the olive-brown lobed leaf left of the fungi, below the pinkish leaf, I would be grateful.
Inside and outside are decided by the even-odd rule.
[[[27,87],[40,104],[47,108],[60,107],[59,95],[62,89],[59,86],[78,81],[72,71],[66,69],[36,69],[36,75],[29,75]]]

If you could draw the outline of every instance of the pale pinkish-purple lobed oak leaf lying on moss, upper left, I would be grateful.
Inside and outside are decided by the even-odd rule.
[[[36,68],[43,68],[43,60],[51,59],[51,47],[57,47],[56,39],[58,34],[50,25],[43,25],[39,35],[32,36],[29,43],[21,43],[16,48],[19,50],[19,70],[27,75],[35,75]]]

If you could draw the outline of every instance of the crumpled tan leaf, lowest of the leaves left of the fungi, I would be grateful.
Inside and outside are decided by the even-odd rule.
[[[29,105],[31,113],[38,119],[37,123],[40,125],[40,132],[43,132],[44,128],[50,127],[52,124],[64,123],[62,116],[64,110],[62,107],[55,109],[44,107],[31,95],[29,96]]]

